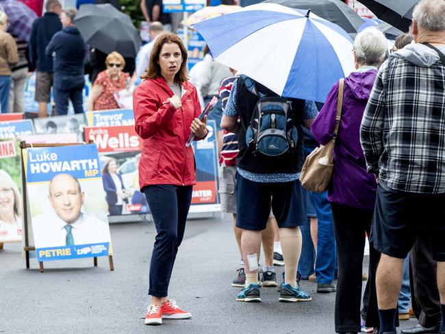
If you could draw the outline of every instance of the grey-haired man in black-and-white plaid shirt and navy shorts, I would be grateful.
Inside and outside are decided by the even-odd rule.
[[[412,34],[416,44],[392,53],[379,69],[361,123],[368,171],[379,183],[372,229],[382,253],[379,333],[396,333],[403,261],[424,229],[437,261],[445,334],[445,1],[420,1]]]

